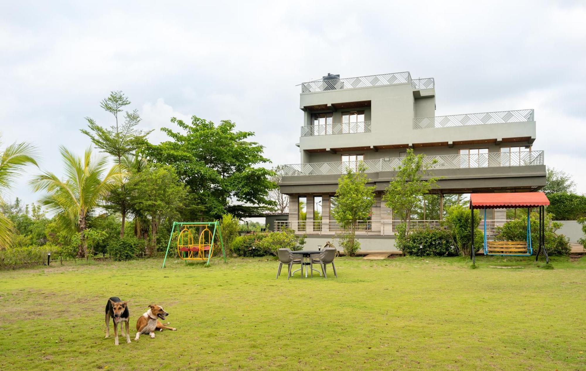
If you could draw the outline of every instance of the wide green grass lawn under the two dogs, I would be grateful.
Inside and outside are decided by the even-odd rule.
[[[586,258],[552,264],[342,257],[338,279],[289,281],[267,258],[2,271],[0,369],[584,369]],[[490,268],[506,265],[523,269]],[[131,331],[148,304],[178,331],[115,346],[110,296],[131,301]]]

